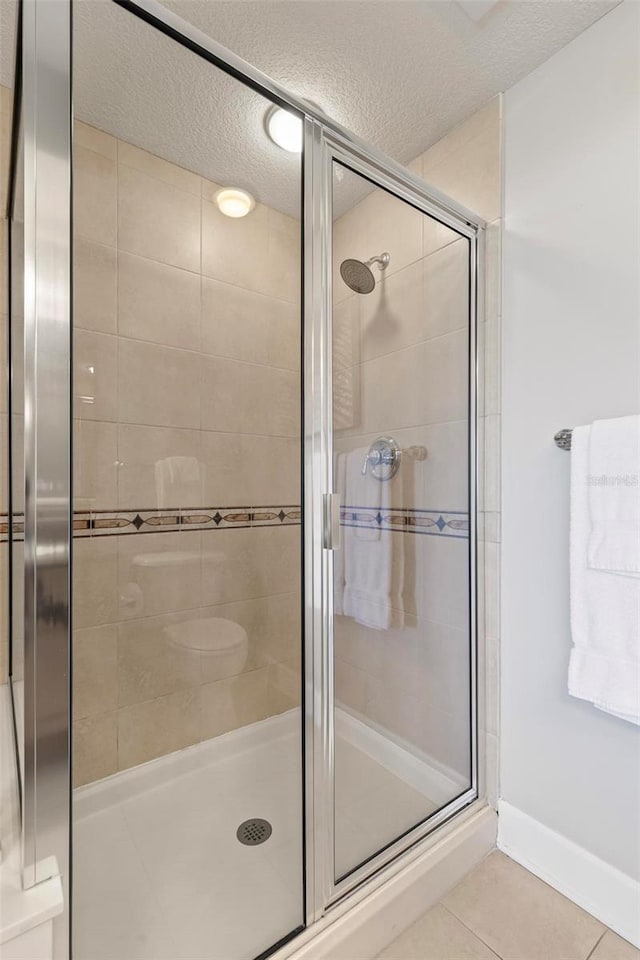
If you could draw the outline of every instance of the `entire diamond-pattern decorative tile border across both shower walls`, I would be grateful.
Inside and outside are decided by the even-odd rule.
[[[76,510],[73,536],[119,537],[132,534],[178,533],[189,530],[247,529],[299,525],[299,506],[280,504],[252,507],[190,507],[187,510]],[[394,507],[375,510],[347,505],[340,508],[340,525],[372,530],[395,530],[432,537],[468,539],[469,518],[460,510],[420,510]],[[0,514],[0,542],[8,540],[9,521]],[[24,539],[24,522],[14,517],[15,539]]]

